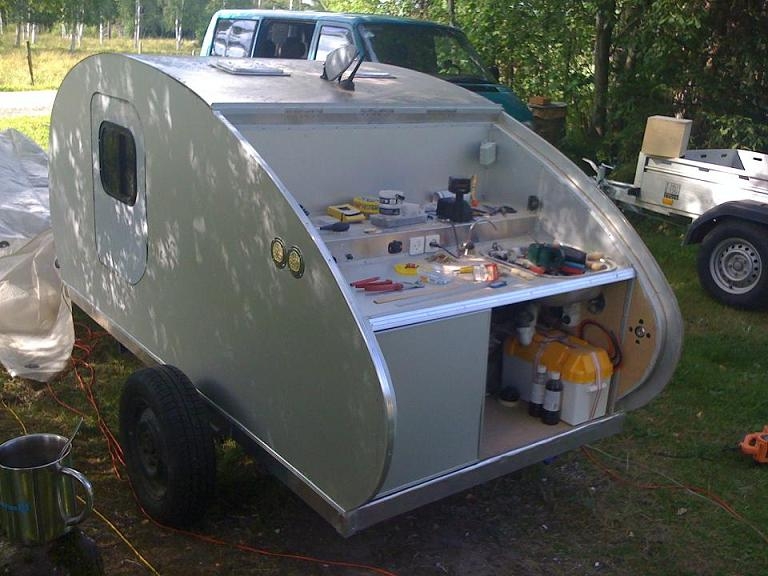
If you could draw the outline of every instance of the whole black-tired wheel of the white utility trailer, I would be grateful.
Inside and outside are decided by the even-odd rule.
[[[701,243],[699,281],[715,299],[734,308],[768,305],[768,228],[752,222],[715,226]]]

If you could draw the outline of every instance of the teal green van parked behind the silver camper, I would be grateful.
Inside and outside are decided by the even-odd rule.
[[[532,123],[528,107],[483,66],[464,33],[434,22],[333,12],[219,10],[205,32],[200,55],[324,60],[345,44],[357,46],[364,60],[437,76]]]

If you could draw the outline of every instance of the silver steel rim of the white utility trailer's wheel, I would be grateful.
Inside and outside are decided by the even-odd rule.
[[[712,251],[710,272],[717,286],[731,294],[745,294],[755,288],[762,274],[760,253],[742,238],[728,238]]]

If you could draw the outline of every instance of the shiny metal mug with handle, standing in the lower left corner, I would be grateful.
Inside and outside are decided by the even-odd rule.
[[[28,434],[0,445],[0,527],[11,542],[51,542],[93,509],[91,483],[68,467],[71,448],[58,434]],[[85,490],[79,512],[74,480]]]

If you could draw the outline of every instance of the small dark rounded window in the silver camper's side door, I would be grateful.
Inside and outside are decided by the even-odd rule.
[[[99,127],[99,176],[102,188],[115,200],[136,203],[136,141],[130,130],[113,122]]]

